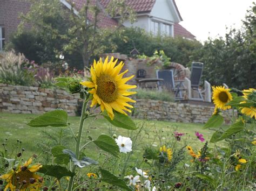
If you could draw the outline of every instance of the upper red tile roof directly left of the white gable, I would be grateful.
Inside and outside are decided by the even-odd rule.
[[[104,8],[111,0],[99,0]],[[126,0],[126,4],[136,12],[150,12],[156,3],[156,0]]]

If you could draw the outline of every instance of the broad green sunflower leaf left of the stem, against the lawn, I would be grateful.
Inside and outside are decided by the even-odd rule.
[[[45,114],[32,119],[27,125],[41,128],[45,126],[68,126],[68,114],[63,110],[49,111]]]

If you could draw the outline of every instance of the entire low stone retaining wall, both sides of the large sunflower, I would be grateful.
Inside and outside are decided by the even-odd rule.
[[[0,84],[0,112],[42,114],[59,108],[74,116],[79,100],[78,94],[71,95],[64,90]],[[143,99],[137,100],[134,108],[134,116],[138,118],[184,123],[205,123],[214,110],[213,105]],[[226,123],[229,123],[228,118],[225,118]]]

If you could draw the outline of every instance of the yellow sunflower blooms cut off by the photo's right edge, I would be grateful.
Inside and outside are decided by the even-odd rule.
[[[243,90],[244,98],[246,100],[256,102],[256,89],[250,88]],[[246,101],[240,102],[240,103],[246,103]],[[251,106],[250,108],[241,108],[242,114],[245,114],[247,116],[250,116],[251,118],[254,117],[256,119],[256,104]]]

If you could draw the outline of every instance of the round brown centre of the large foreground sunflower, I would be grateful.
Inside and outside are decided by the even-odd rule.
[[[114,102],[117,99],[117,84],[110,75],[101,75],[97,78],[96,94],[106,103]]]

